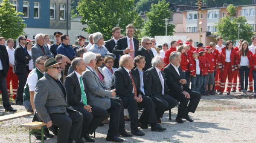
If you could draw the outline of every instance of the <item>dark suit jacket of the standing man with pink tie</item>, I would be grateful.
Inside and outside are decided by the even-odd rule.
[[[134,41],[134,56],[138,55],[139,50],[139,40],[133,38]],[[115,68],[119,66],[119,58],[124,54],[124,50],[128,47],[127,37],[123,37],[117,40],[116,46],[114,47],[112,53],[116,55],[116,59],[114,61]],[[128,54],[128,53],[125,53]]]

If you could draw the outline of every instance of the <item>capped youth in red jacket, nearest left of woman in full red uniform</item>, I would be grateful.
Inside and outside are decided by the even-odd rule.
[[[206,54],[205,57],[207,58],[207,62],[209,63],[208,75],[206,78],[206,92],[207,95],[215,95],[215,93],[212,91],[213,85],[214,85],[214,72],[215,67],[217,66],[217,63],[215,62],[214,56],[212,53],[212,48],[210,46],[205,47]],[[218,51],[218,50],[217,50]]]

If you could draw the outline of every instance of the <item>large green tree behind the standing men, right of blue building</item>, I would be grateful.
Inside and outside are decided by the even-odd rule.
[[[83,30],[88,33],[99,31],[106,39],[111,38],[115,26],[125,29],[132,23],[136,30],[142,27],[143,20],[134,10],[134,0],[80,0],[77,8],[82,16],[81,23],[87,24]]]

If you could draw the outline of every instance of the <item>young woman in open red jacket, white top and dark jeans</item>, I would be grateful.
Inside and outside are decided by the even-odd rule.
[[[241,95],[247,95],[248,88],[248,77],[250,72],[250,60],[253,53],[249,51],[247,41],[242,43],[242,48],[238,51],[238,64],[240,74],[240,85],[241,85]],[[245,81],[245,83],[244,83]]]

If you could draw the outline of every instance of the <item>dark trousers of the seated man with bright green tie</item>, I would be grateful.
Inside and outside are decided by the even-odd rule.
[[[84,137],[84,133],[93,134],[97,129],[100,123],[108,117],[108,112],[104,109],[101,109],[97,106],[92,106],[92,112],[88,112],[83,107],[72,106],[73,109],[79,111],[83,114],[83,126],[81,132],[81,138]]]

